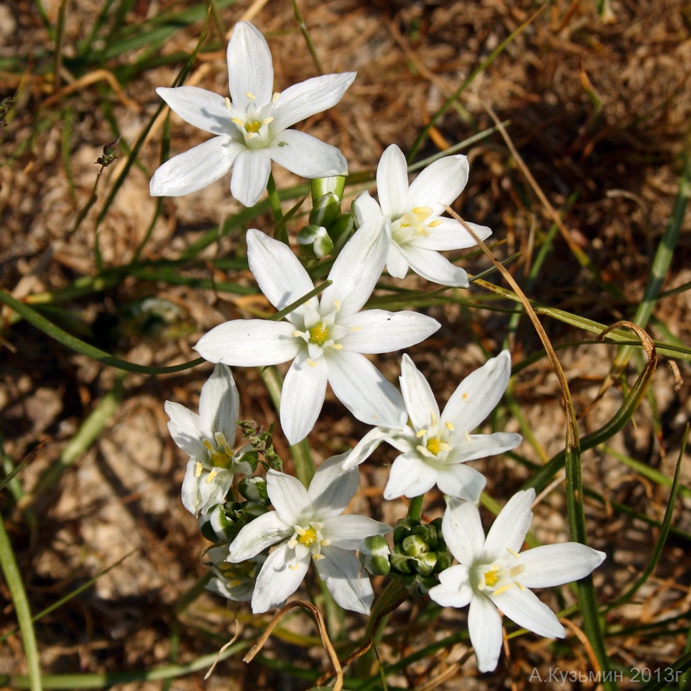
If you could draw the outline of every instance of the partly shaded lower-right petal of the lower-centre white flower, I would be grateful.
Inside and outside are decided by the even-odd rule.
[[[355,553],[330,546],[322,549],[322,556],[315,565],[334,600],[343,609],[369,614],[374,594]]]

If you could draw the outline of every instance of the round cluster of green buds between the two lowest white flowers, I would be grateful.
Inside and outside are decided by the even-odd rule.
[[[437,574],[453,560],[442,537],[441,518],[431,523],[400,519],[393,529],[392,550],[378,535],[366,539],[360,550],[360,563],[367,571],[400,578],[411,595],[424,595],[437,585]]]

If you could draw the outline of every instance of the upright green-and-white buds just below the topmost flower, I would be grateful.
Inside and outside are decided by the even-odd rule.
[[[305,259],[318,260],[338,254],[353,232],[351,212],[341,212],[345,177],[337,175],[312,181],[310,223],[298,232],[298,247]]]

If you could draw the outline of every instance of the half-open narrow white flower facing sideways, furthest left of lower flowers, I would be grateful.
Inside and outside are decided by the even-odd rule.
[[[217,364],[201,388],[199,414],[167,400],[168,429],[173,441],[189,456],[182,482],[182,503],[193,515],[206,514],[225,502],[235,473],[249,475],[252,467],[233,453],[240,398],[230,369]]]

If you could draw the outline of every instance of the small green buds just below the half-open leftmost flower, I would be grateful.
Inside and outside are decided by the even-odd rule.
[[[269,495],[266,493],[264,478],[244,478],[237,485],[237,490],[245,501],[217,504],[207,514],[199,517],[201,534],[209,541],[217,544],[232,542],[243,527],[269,510]]]

